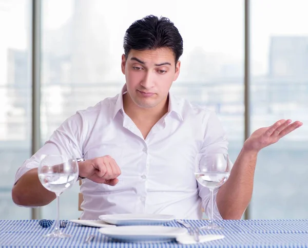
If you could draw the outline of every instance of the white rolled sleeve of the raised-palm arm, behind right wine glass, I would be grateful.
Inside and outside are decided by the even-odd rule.
[[[215,112],[210,112],[208,117],[204,120],[205,134],[204,141],[200,150],[199,163],[202,163],[205,159],[205,155],[210,152],[228,152],[228,141],[226,133],[221,125]],[[199,196],[202,200],[202,206],[204,212],[207,216],[211,213],[211,202],[210,202],[210,191],[207,187],[202,186],[198,182]],[[222,217],[218,211],[216,196],[219,188],[214,190],[214,209],[213,209],[213,219],[221,220]]]

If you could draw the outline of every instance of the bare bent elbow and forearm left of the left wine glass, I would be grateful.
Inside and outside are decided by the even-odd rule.
[[[41,184],[37,168],[34,168],[27,171],[13,186],[12,199],[17,205],[44,206],[55,199],[55,194]]]

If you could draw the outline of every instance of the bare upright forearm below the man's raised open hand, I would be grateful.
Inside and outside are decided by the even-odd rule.
[[[257,152],[243,148],[229,179],[217,193],[217,207],[223,219],[240,219],[251,201]]]

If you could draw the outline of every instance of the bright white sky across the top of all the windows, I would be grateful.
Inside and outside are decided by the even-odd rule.
[[[81,0],[82,1],[82,0]],[[166,16],[178,27],[184,40],[182,62],[191,50],[200,47],[226,63],[242,63],[244,56],[243,0],[167,0],[164,2],[108,2],[88,0],[93,18],[104,20],[106,39],[114,63],[121,56],[125,30],[135,20],[148,14]],[[0,0],[0,81],[4,80],[7,47],[29,46],[29,0]],[[43,32],[60,28],[73,14],[74,0],[43,0]],[[119,7],[121,6],[121,7]],[[251,0],[251,59],[253,75],[267,72],[271,35],[308,36],[308,1]],[[2,68],[2,69],[1,69]],[[1,85],[1,83],[0,83]]]

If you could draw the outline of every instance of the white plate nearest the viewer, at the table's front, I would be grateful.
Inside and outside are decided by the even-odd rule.
[[[134,225],[100,228],[105,236],[124,242],[166,242],[187,234],[185,228],[159,225]]]

